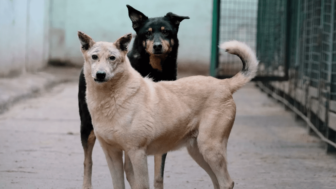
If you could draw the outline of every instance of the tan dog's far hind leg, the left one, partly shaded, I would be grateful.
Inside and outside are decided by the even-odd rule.
[[[194,141],[190,145],[187,145],[187,150],[189,155],[196,161],[196,163],[208,173],[208,175],[211,178],[214,189],[220,189],[217,177],[215,173],[212,171],[209,164],[204,160],[203,155],[200,153],[198,149],[196,141]]]

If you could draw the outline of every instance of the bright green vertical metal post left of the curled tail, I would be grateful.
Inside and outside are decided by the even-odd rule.
[[[218,42],[219,42],[219,20],[220,20],[220,0],[213,1],[212,10],[212,35],[211,35],[211,62],[210,62],[210,76],[217,75],[218,67]]]

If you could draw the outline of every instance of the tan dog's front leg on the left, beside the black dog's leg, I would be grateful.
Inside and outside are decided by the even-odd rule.
[[[98,138],[98,137],[97,137]],[[99,139],[98,139],[99,140]],[[110,169],[114,189],[125,189],[123,151],[112,148],[104,140],[99,140]]]

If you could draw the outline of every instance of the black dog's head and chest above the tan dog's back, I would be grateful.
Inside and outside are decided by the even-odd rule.
[[[136,32],[133,48],[128,53],[131,65],[144,77],[154,81],[176,80],[177,31],[183,19],[168,12],[163,17],[148,18],[129,5],[128,15]]]

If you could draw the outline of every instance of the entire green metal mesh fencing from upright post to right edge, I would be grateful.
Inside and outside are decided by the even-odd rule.
[[[300,111],[310,130],[327,142],[326,150],[336,151],[336,0],[259,0],[255,2],[256,35],[251,29],[253,16],[243,13],[254,10],[252,2],[214,1],[220,7],[218,20],[213,20],[219,37],[212,45],[232,38],[256,47],[259,84]],[[227,9],[238,16],[227,16]],[[248,39],[239,35],[238,19],[250,24]],[[240,64],[219,51],[218,58],[211,61],[210,74],[229,77]]]

